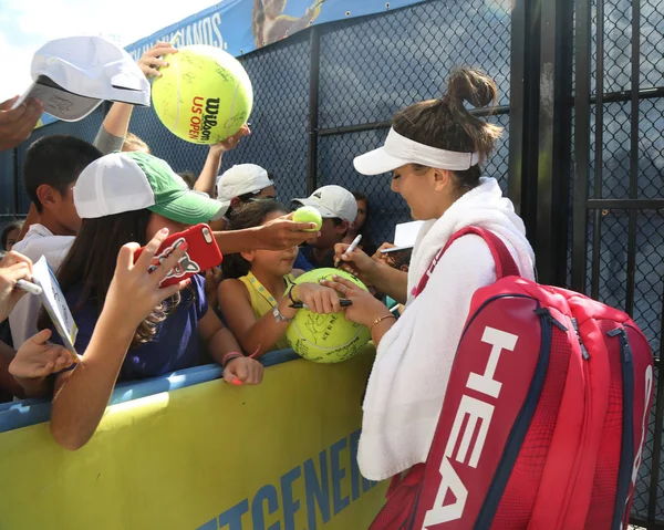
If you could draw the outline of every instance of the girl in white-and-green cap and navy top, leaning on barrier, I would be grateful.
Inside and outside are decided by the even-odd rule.
[[[51,432],[59,444],[77,449],[90,439],[116,381],[196,366],[204,347],[224,365],[227,382],[260,383],[262,366],[241,353],[230,331],[208,309],[199,274],[186,280],[186,289],[173,290],[154,305],[133,329],[124,350],[89,351],[100,314],[112,302],[115,258],[123,246],[129,241],[144,246],[159,233],[205,222],[218,215],[219,202],[189,190],[164,160],[138,152],[114,153],[92,163],[81,173],[73,198],[82,225],[58,280],[77,325],[74,346],[85,366],[56,377]],[[187,243],[179,248],[180,269],[194,267]],[[151,264],[158,267],[159,260]],[[53,329],[42,312],[40,329],[44,328]],[[52,340],[59,339],[53,333]]]

